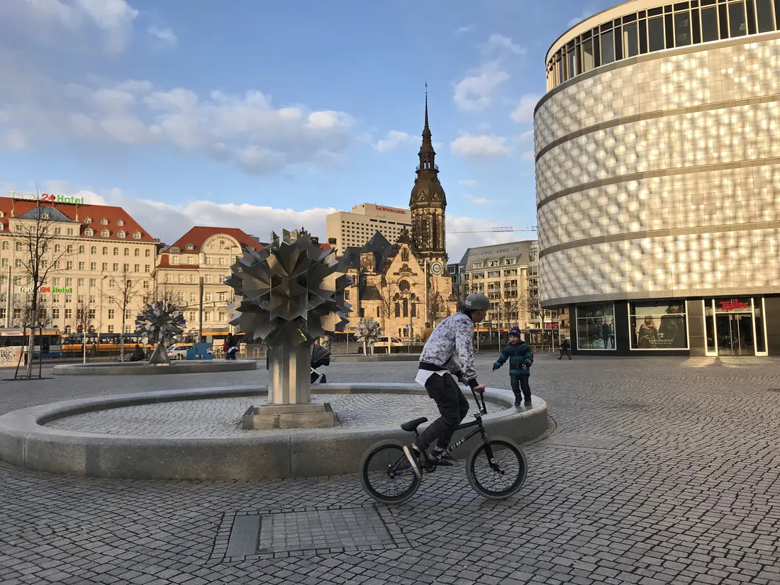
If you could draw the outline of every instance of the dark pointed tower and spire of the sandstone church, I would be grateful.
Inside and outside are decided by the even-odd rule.
[[[447,198],[438,180],[436,151],[431,143],[428,127],[428,92],[425,91],[425,127],[420,146],[420,165],[414,179],[409,207],[412,212],[412,239],[421,257],[426,261],[438,260],[445,266],[445,208]]]

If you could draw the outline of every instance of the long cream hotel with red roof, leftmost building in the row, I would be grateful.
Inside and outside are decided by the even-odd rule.
[[[15,195],[27,198],[0,197],[0,326],[29,322],[37,272],[43,327],[119,333],[124,321],[133,332],[153,292],[158,240],[122,207]]]

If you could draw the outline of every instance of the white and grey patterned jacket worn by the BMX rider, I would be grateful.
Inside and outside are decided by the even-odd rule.
[[[420,355],[420,370],[447,370],[458,379],[466,378],[471,388],[478,385],[471,317],[456,313],[436,326]]]

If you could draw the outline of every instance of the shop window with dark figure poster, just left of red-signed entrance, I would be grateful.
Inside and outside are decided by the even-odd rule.
[[[631,349],[687,349],[685,300],[630,303]]]

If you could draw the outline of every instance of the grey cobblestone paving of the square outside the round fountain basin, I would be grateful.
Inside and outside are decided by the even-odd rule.
[[[507,388],[505,370],[488,373],[494,357],[477,371]],[[503,502],[475,495],[463,469],[426,477],[406,505],[374,507],[356,476],[129,481],[0,463],[0,583],[780,583],[780,363],[744,363],[537,356],[531,385],[551,430],[526,445],[527,483]],[[0,412],[265,375],[0,382]],[[259,530],[257,552],[238,529]]]

